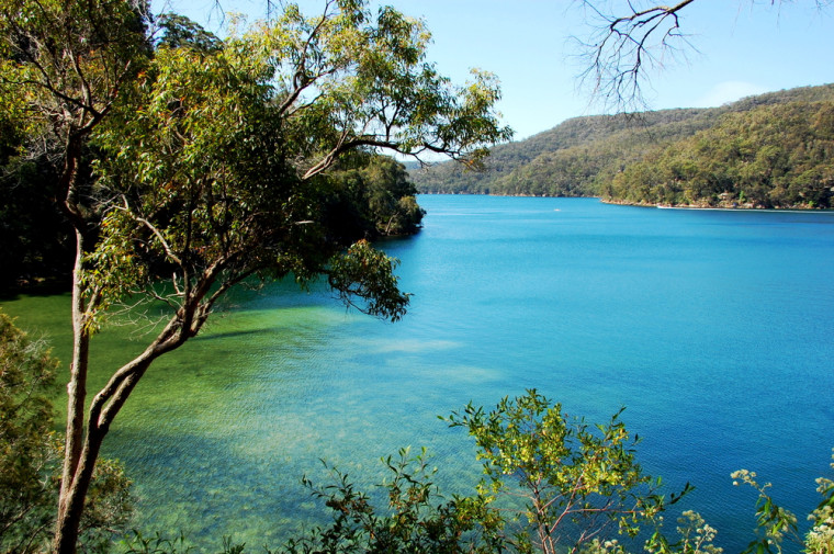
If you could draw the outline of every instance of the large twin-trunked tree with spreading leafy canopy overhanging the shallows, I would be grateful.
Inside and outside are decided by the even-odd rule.
[[[55,552],[71,554],[102,442],[150,364],[202,329],[250,278],[324,274],[345,299],[399,318],[393,260],[347,246],[322,217],[326,172],[380,148],[476,163],[507,139],[487,74],[453,87],[425,60],[421,23],[361,1],[316,18],[284,7],[217,48],[150,55],[145,5],[0,3],[3,91],[60,145],[57,189],[74,225],[74,354]],[[84,144],[98,179],[78,178]],[[88,185],[89,184],[89,185]],[[160,278],[166,275],[168,283]],[[158,333],[89,403],[91,339],[127,298],[167,308]]]

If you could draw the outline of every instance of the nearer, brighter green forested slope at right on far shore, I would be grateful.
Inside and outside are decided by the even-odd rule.
[[[714,127],[632,163],[607,191],[633,203],[831,207],[833,102],[728,114]]]

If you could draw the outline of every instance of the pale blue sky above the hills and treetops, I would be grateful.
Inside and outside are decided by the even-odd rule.
[[[164,0],[155,0],[159,10]],[[165,0],[177,11],[219,32],[213,0]],[[463,83],[471,68],[495,74],[501,83],[498,110],[520,140],[566,118],[602,113],[587,88],[572,37],[591,27],[575,0],[371,0],[420,18],[432,34],[427,59]],[[646,0],[643,4],[667,3]],[[319,13],[324,0],[298,2]],[[264,0],[221,0],[226,11],[257,19]],[[623,13],[624,0],[599,0]],[[208,8],[206,8],[208,7]],[[647,108],[710,108],[751,94],[834,82],[834,5],[814,0],[696,0],[681,12],[690,46],[666,56],[647,74]]]

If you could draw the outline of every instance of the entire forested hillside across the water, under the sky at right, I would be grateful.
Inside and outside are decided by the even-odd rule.
[[[830,102],[834,86],[771,92],[714,109],[576,117],[527,140],[496,146],[483,172],[447,162],[413,169],[412,178],[420,192],[826,207],[831,148],[824,112]],[[673,158],[683,151],[695,156],[695,143],[712,147],[696,162],[700,184],[686,182],[696,179],[692,168],[689,173],[673,169]],[[739,144],[743,147],[733,157],[729,152]],[[756,156],[755,177],[740,169]],[[657,172],[655,166],[668,171]],[[739,180],[731,184],[728,179]]]

